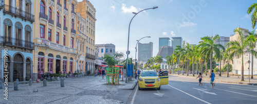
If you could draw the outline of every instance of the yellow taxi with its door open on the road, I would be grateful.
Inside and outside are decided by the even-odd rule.
[[[159,74],[154,70],[144,70],[140,72],[138,78],[138,89],[157,88],[160,90],[161,85],[169,84],[168,71],[162,71]]]

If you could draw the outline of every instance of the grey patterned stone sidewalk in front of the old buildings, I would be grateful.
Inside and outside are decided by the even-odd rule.
[[[121,79],[120,79],[121,80]],[[13,91],[13,82],[8,83],[8,100],[4,99],[4,90],[0,89],[1,103],[120,103],[118,100],[107,97],[118,89],[134,89],[137,80],[130,83],[120,81],[120,85],[107,85],[106,77],[82,76],[66,78],[65,87],[60,81],[48,81],[43,87],[43,82],[19,84],[19,90]],[[4,88],[5,86],[3,86]],[[38,92],[33,90],[38,89]]]

